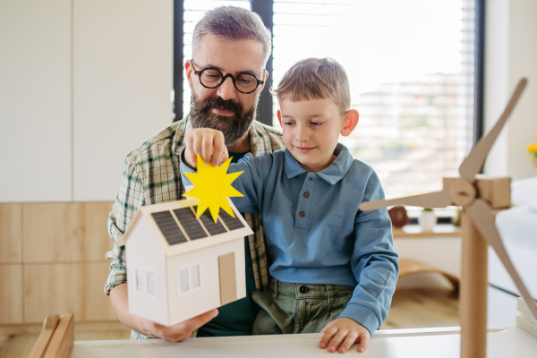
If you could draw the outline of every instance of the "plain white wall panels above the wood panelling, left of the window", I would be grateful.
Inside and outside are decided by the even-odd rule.
[[[0,4],[0,202],[115,200],[172,124],[173,2]]]

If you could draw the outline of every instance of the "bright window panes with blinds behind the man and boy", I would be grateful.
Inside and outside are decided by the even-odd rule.
[[[204,11],[221,4],[256,8],[257,1],[184,1],[183,62]],[[481,79],[474,80],[481,3],[274,0],[272,19],[263,16],[273,26],[273,85],[302,58],[336,59],[360,113],[354,133],[341,140],[354,158],[376,170],[387,198],[440,190],[442,176],[458,175],[481,131]],[[187,113],[186,81],[183,88]],[[279,127],[276,110],[274,101]]]

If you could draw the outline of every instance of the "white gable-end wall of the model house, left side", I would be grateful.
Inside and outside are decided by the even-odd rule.
[[[165,252],[145,217],[138,220],[136,229],[130,234],[125,247],[127,277],[129,277],[129,312],[168,326]],[[136,291],[135,268],[137,267],[157,270],[157,298]]]

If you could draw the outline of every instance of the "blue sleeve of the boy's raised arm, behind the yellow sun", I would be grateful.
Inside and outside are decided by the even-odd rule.
[[[184,149],[181,151],[180,156],[181,180],[185,186],[192,185],[192,182],[184,173],[196,173],[196,170],[184,163],[183,155]],[[248,153],[238,163],[229,165],[227,173],[243,171],[243,174],[235,179],[232,186],[237,191],[243,193],[244,196],[230,198],[240,212],[260,214],[260,204],[263,202],[265,183],[267,183],[268,174],[274,164],[273,162],[271,153],[263,153],[259,157],[253,157],[251,153]]]

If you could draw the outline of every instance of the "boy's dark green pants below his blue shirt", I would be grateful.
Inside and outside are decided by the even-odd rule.
[[[354,287],[286,284],[272,279],[268,292],[254,291],[260,312],[252,334],[318,333],[345,309]]]

